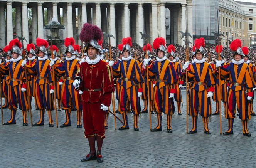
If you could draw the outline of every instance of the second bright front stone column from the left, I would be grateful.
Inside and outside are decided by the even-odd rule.
[[[29,23],[27,18],[27,3],[22,2],[22,35],[27,41],[23,41],[24,48],[27,47],[29,42]]]

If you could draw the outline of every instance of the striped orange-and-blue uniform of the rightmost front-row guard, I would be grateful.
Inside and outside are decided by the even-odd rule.
[[[221,77],[229,78],[230,84],[227,91],[227,110],[225,117],[228,119],[229,128],[226,132],[233,132],[234,118],[236,117],[235,108],[239,111],[239,118],[242,122],[243,133],[249,133],[247,129],[247,120],[251,118],[248,112],[247,96],[252,96],[255,84],[249,66],[245,63],[229,63],[221,67]],[[246,89],[249,93],[246,94]]]

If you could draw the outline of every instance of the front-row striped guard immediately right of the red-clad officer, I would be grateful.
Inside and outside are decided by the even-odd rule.
[[[118,110],[122,114],[124,125],[119,130],[129,129],[127,113],[127,104],[130,103],[131,110],[133,111],[133,129],[138,131],[138,118],[140,114],[139,97],[142,96],[142,88],[138,88],[139,83],[144,82],[141,75],[138,62],[132,59],[131,51],[131,37],[123,38],[122,61],[113,65],[113,76],[120,77],[120,89],[118,97]],[[109,61],[109,66],[112,61]]]

